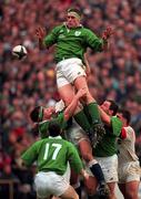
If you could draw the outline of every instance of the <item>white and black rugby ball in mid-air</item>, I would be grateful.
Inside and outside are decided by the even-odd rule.
[[[23,45],[16,45],[12,49],[12,55],[16,56],[18,60],[22,60],[27,56],[28,51],[26,49],[26,46]]]

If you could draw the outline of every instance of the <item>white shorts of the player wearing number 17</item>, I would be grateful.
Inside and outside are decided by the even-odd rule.
[[[61,196],[70,186],[63,176],[59,176],[53,171],[38,172],[34,185],[38,198],[47,198],[51,195]]]

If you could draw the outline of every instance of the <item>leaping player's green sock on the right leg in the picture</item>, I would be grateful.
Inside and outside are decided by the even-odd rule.
[[[100,113],[97,103],[90,103],[87,105],[87,112],[89,113],[92,124],[101,123]]]

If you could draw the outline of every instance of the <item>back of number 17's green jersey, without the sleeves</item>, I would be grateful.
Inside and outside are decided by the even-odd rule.
[[[63,175],[69,159],[70,144],[61,136],[42,139],[37,145],[39,171]]]

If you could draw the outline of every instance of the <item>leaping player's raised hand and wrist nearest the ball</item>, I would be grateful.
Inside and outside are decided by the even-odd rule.
[[[46,30],[41,27],[39,27],[37,30],[36,30],[36,35],[38,38],[38,42],[39,42],[39,49],[40,50],[43,50],[46,48],[46,44],[43,43],[43,39],[46,36]]]

